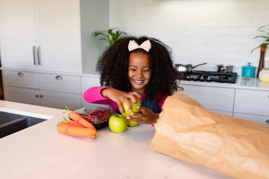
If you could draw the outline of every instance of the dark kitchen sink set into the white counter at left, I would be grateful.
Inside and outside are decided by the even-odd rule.
[[[11,135],[11,133],[25,129],[43,121],[46,121],[46,119],[0,111],[0,138]]]

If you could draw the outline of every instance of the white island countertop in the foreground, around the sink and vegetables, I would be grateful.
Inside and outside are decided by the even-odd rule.
[[[231,178],[153,151],[151,125],[91,140],[57,131],[61,109],[0,101],[0,110],[48,119],[0,139],[1,178]]]

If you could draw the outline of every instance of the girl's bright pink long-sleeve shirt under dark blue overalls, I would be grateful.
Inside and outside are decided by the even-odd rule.
[[[112,101],[111,99],[106,98],[106,97],[101,95],[101,90],[104,88],[107,88],[107,87],[108,86],[91,87],[91,88],[87,89],[86,92],[83,94],[83,98],[85,99],[85,101],[87,101],[89,103],[110,105],[112,107],[113,111],[116,111],[117,110],[117,103]],[[143,101],[145,96],[146,96],[146,94],[141,96],[140,102]],[[160,110],[162,110],[162,105],[167,97],[168,97],[168,95],[165,95],[163,97],[163,99],[159,102]]]

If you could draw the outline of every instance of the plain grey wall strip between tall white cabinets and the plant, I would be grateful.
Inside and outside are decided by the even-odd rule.
[[[109,0],[80,0],[80,20],[82,73],[95,73],[107,44],[93,38],[92,32],[109,28]]]

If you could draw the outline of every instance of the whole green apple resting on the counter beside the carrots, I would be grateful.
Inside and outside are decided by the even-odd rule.
[[[121,133],[126,130],[128,121],[125,116],[114,114],[109,118],[108,125],[112,132]]]

